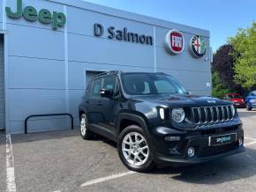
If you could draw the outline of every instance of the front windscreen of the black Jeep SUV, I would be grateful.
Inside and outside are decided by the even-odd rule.
[[[124,73],[124,91],[131,95],[186,93],[184,86],[165,74]]]

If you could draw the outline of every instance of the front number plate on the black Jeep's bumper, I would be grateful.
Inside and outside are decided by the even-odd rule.
[[[209,137],[209,146],[216,146],[221,144],[230,144],[237,141],[237,134],[231,133],[222,136]]]

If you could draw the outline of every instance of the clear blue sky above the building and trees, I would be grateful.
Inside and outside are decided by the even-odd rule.
[[[124,11],[207,29],[215,51],[238,27],[256,20],[256,0],[87,0]]]

